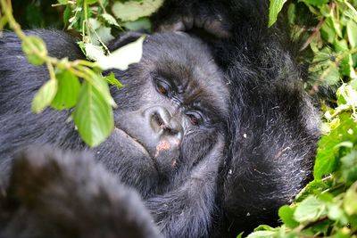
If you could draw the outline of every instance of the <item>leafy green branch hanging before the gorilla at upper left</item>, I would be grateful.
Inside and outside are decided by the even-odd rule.
[[[156,11],[160,4],[162,0],[131,0],[114,2],[112,5],[108,0],[58,0],[54,6],[65,9],[63,24],[66,29],[80,33],[82,40],[78,44],[88,60],[70,62],[68,59],[50,57],[40,37],[26,36],[12,16],[11,2],[1,0],[0,29],[9,23],[21,38],[22,50],[29,62],[34,65],[46,64],[49,71],[50,78],[35,95],[32,111],[40,113],[48,106],[55,110],[73,108],[72,118],[83,141],[90,146],[102,143],[114,127],[112,107],[116,104],[108,83],[122,86],[113,74],[104,77],[102,71],[126,70],[129,64],[138,62],[144,37],[113,53],[108,51],[105,43],[113,38],[112,29],[122,29],[121,24],[128,29],[141,26],[149,29],[145,17]],[[116,18],[107,12],[110,7]],[[132,22],[134,20],[137,22]]]

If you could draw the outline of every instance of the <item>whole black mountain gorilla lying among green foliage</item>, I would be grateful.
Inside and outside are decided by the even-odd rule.
[[[0,237],[235,237],[276,225],[278,207],[310,179],[319,120],[284,34],[266,27],[266,5],[166,0],[155,29],[205,43],[157,33],[141,62],[114,71],[125,87],[112,88],[115,129],[92,150],[100,164],[42,146],[12,159],[29,144],[87,148],[69,111],[31,114],[46,69],[29,65],[17,37],[4,34]],[[28,33],[43,37],[50,55],[82,57],[65,34]]]

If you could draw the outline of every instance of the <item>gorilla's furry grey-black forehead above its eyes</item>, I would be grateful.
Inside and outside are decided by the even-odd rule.
[[[170,80],[185,98],[228,111],[228,87],[207,45],[184,33],[154,34],[145,40],[146,73]]]

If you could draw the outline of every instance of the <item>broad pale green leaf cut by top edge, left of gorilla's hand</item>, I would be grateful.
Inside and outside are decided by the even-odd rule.
[[[139,0],[128,2],[115,2],[112,5],[114,16],[121,21],[136,21],[156,12],[163,0]]]

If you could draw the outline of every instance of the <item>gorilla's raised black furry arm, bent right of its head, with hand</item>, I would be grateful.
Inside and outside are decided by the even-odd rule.
[[[320,135],[295,45],[285,28],[268,29],[268,12],[268,1],[260,0],[167,0],[154,17],[160,31],[182,25],[194,34],[200,26],[218,31],[209,43],[228,78],[231,103],[220,231],[232,237],[260,224],[278,225],[278,208],[311,179]]]

